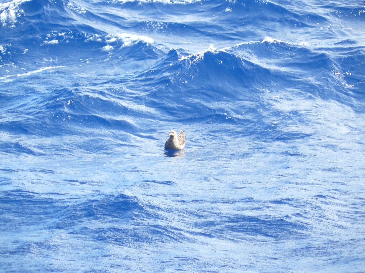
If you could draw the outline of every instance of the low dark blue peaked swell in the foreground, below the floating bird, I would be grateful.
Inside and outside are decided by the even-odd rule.
[[[152,207],[146,207],[146,204],[141,206],[137,200],[119,195],[77,202],[62,216],[60,224],[62,228],[70,230],[70,234],[84,234],[95,241],[112,242],[120,246],[153,244],[156,240],[160,243],[180,240],[178,238],[182,236],[182,230],[156,224],[158,219],[162,219],[148,212]],[[89,228],[89,221],[108,224]]]

